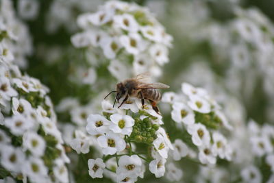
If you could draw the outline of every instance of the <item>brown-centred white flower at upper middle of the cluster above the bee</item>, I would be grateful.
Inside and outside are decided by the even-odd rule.
[[[139,25],[131,14],[119,14],[113,17],[114,26],[128,32],[138,32]]]

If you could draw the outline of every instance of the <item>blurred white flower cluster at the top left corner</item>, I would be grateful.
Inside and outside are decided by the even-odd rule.
[[[0,2],[0,63],[27,67],[25,56],[32,53],[32,38],[25,24],[16,18],[12,1]]]

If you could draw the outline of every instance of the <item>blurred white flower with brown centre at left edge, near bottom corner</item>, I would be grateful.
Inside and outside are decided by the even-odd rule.
[[[1,165],[9,171],[21,172],[25,161],[25,154],[20,148],[1,145]]]

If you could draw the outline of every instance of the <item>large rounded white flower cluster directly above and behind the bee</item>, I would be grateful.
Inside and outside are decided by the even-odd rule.
[[[97,12],[80,15],[77,24],[83,32],[71,38],[73,45],[86,48],[92,66],[110,60],[108,70],[119,80],[145,71],[158,77],[160,66],[169,62],[172,37],[139,5],[108,1]]]

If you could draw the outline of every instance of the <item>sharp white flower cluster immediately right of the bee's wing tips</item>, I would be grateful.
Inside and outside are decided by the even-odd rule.
[[[184,95],[164,93],[162,100],[171,104],[171,118],[178,127],[186,129],[192,143],[198,147],[200,162],[216,164],[217,156],[231,160],[232,147],[227,138],[218,131],[220,127],[232,130],[232,126],[221,112],[221,107],[203,88],[183,83],[182,91]]]

